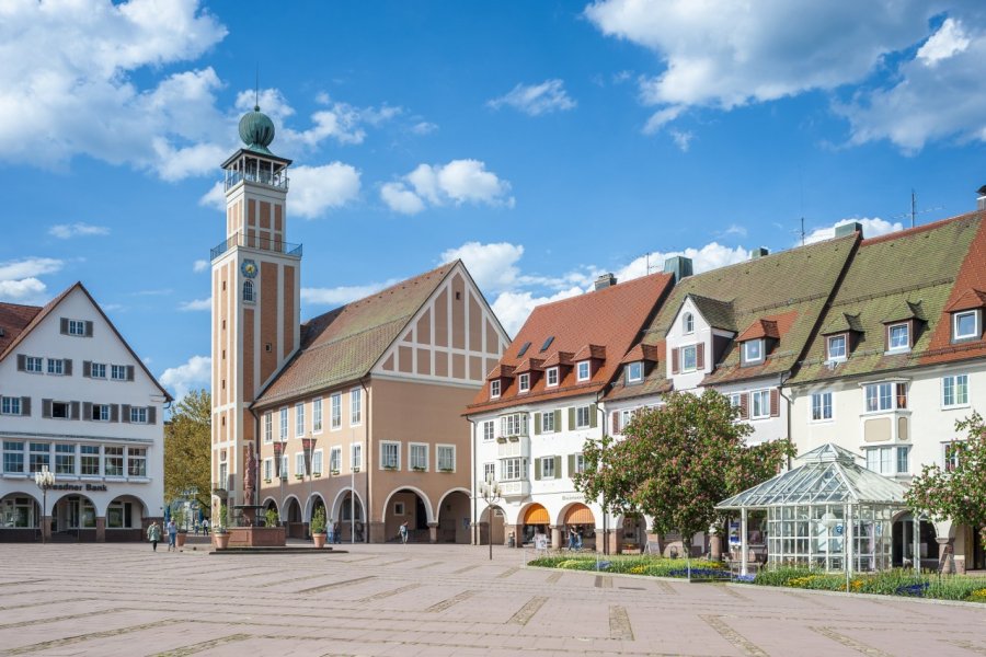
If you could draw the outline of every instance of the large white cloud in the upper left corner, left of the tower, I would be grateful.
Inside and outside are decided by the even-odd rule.
[[[0,125],[4,159],[61,166],[88,154],[175,178],[200,163],[175,172],[162,153],[226,134],[213,69],[161,77],[226,35],[196,0],[16,2],[2,11],[0,116],[16,117]]]

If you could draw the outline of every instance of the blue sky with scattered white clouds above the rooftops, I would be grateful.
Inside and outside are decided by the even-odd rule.
[[[713,7],[714,4],[714,7]],[[976,2],[13,0],[0,300],[82,280],[152,372],[208,382],[219,164],[295,161],[302,318],[463,257],[513,333],[601,272],[698,269],[986,184]]]

